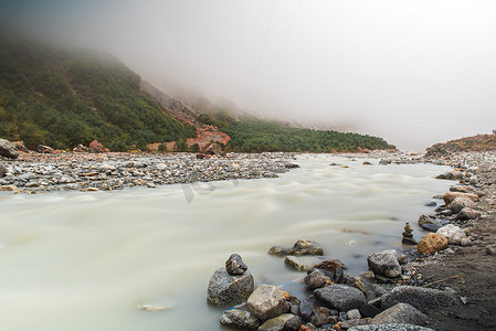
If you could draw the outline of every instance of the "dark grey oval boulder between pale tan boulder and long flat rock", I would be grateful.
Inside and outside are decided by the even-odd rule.
[[[340,284],[316,289],[314,296],[325,307],[339,311],[358,309],[367,303],[366,296],[359,289]]]

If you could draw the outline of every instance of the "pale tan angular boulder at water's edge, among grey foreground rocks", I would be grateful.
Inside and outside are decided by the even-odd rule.
[[[247,299],[247,308],[258,319],[266,321],[287,312],[291,305],[277,287],[262,285]]]

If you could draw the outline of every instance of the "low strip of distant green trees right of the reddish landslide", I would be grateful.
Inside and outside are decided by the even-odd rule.
[[[222,128],[221,130],[231,136],[228,149],[232,151],[344,152],[358,151],[359,148],[394,148],[378,137],[291,128],[278,122],[254,118],[236,120],[225,111],[214,116],[202,114],[199,119]]]

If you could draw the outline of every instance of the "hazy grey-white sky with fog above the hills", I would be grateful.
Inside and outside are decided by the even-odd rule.
[[[494,0],[12,0],[0,18],[157,85],[403,150],[496,129]]]

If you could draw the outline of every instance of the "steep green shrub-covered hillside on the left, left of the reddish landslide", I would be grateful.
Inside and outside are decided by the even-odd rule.
[[[0,36],[0,137],[72,149],[97,139],[114,151],[196,136],[140,90],[115,58]]]

